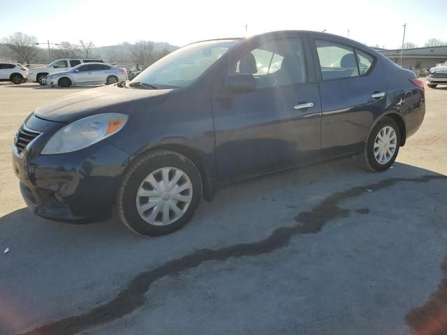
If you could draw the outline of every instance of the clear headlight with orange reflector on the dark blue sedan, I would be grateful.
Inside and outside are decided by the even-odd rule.
[[[54,133],[41,154],[64,154],[89,147],[120,131],[129,117],[120,113],[105,113],[85,117]]]

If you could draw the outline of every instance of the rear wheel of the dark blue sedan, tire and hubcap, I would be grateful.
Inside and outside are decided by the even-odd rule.
[[[372,129],[358,158],[366,170],[385,171],[393,165],[399,147],[400,128],[392,118],[384,117]]]

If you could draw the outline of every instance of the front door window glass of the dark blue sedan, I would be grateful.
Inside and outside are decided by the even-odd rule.
[[[256,89],[268,89],[306,82],[305,53],[301,38],[284,38],[262,43],[244,55],[228,74],[254,76]]]

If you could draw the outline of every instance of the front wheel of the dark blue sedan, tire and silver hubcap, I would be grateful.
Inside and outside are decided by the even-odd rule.
[[[201,197],[196,165],[174,151],[154,151],[126,172],[117,196],[118,215],[133,232],[160,236],[186,225]]]

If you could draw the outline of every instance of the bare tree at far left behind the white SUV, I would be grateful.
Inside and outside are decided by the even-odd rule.
[[[9,50],[9,56],[20,64],[32,63],[38,54],[37,39],[34,36],[14,33],[3,38],[3,43]]]

